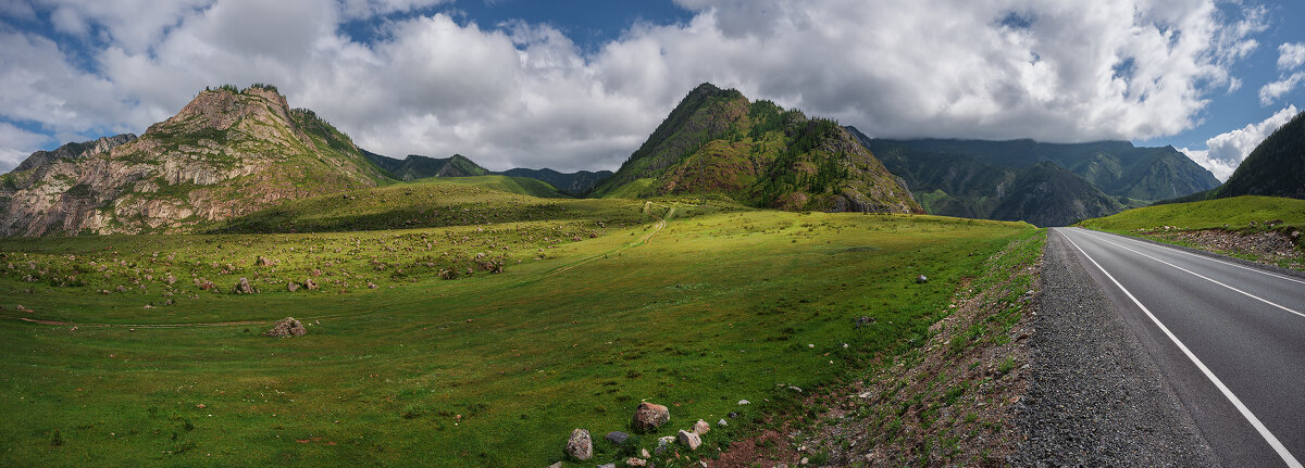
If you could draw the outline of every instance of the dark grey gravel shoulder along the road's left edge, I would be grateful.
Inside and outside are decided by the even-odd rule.
[[[1015,467],[1218,467],[1151,356],[1071,254],[1048,236]]]

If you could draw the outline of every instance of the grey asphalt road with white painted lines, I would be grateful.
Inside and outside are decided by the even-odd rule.
[[[1225,467],[1305,459],[1305,279],[1131,237],[1053,228]]]

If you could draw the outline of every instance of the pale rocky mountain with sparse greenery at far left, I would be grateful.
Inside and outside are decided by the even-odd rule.
[[[347,136],[275,87],[223,86],[140,138],[29,156],[0,176],[0,235],[185,232],[382,180]]]

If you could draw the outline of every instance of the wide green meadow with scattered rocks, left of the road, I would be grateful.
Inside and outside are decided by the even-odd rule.
[[[322,232],[343,231],[341,219],[392,212],[376,207],[408,188],[369,192],[389,198],[372,205],[291,203],[258,226],[326,212]],[[650,450],[740,413],[705,448],[658,463],[684,467],[792,404],[786,386],[833,383],[923,343],[963,278],[1039,232],[633,201],[529,198],[535,211],[499,216],[514,203],[440,202],[458,219],[415,229],[0,240],[0,465],[543,467],[586,428],[596,456],[570,465],[592,467],[619,456],[602,435],[629,430],[641,400],[671,408],[671,424],[637,441]],[[649,236],[655,216],[668,223]],[[238,278],[262,292],[228,293]],[[307,279],[321,289],[287,291]],[[309,334],[260,336],[287,315]],[[861,315],[877,321],[855,329]]]

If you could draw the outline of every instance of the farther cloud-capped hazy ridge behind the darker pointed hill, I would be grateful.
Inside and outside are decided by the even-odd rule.
[[[1173,146],[1135,147],[1126,141],[1041,143],[1032,139],[904,139],[889,142],[928,153],[960,154],[1009,168],[1049,160],[1101,192],[1141,201],[1182,197],[1219,186],[1214,173]]]

